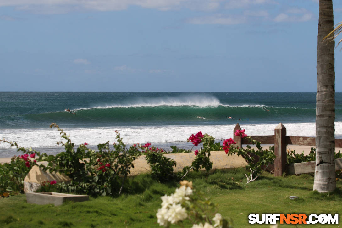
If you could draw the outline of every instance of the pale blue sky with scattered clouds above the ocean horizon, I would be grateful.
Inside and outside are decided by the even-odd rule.
[[[0,91],[315,92],[317,27],[318,0],[1,0]]]

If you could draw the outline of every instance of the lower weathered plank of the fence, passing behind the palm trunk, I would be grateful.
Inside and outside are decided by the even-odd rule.
[[[287,174],[314,173],[316,162],[301,162],[286,164]],[[342,159],[335,159],[335,169],[342,169]]]

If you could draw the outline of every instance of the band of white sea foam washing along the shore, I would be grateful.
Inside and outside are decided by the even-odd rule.
[[[241,124],[247,135],[273,135],[277,124]],[[315,136],[315,123],[288,123],[284,124],[287,135]],[[184,142],[191,134],[202,131],[215,137],[216,140],[233,137],[235,125],[208,125],[208,126],[155,126],[155,127],[105,127],[105,128],[65,128],[75,144],[87,142],[90,145],[104,143],[109,140],[115,142],[115,130],[125,143],[165,143]],[[342,122],[335,123],[336,138],[342,138]],[[0,138],[16,141],[22,147],[52,147],[60,141],[60,134],[56,129],[1,129]],[[1,143],[0,149],[10,148],[9,144]]]

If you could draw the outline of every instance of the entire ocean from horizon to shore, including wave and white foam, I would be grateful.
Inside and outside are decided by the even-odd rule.
[[[342,93],[335,100],[338,138]],[[60,139],[52,122],[76,144],[92,145],[114,140],[114,130],[127,143],[181,144],[199,130],[227,138],[236,123],[249,135],[273,134],[281,122],[288,135],[314,136],[315,107],[312,92],[0,92],[0,138],[54,147]]]

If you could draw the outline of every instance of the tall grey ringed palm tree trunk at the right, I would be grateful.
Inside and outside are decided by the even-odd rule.
[[[332,0],[319,0],[317,37],[316,168],[313,190],[331,192],[335,179],[335,42],[323,43],[334,27]]]

